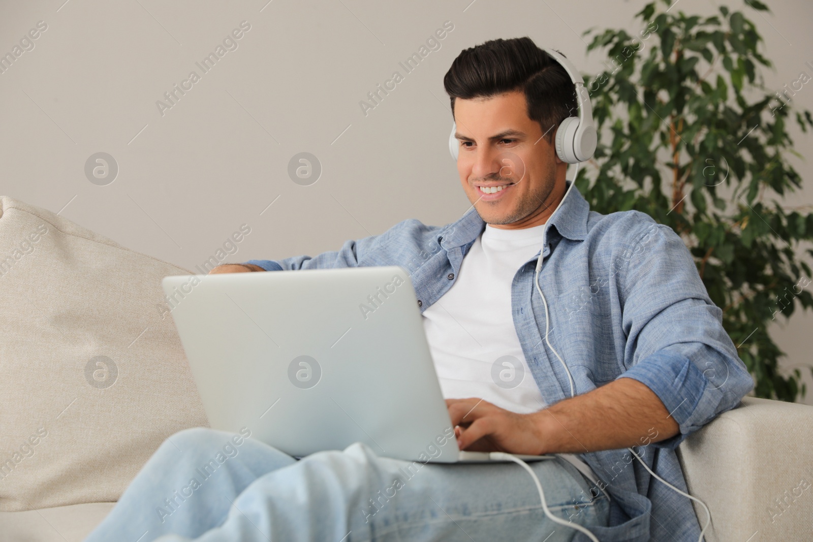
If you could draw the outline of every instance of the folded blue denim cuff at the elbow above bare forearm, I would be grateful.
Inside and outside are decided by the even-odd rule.
[[[646,384],[680,426],[677,435],[652,443],[658,448],[676,449],[693,431],[715,417],[723,398],[720,389],[708,388],[709,380],[692,360],[669,350],[650,354],[619,378]]]

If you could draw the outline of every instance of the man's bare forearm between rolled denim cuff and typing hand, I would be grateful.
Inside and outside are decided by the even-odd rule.
[[[559,401],[533,416],[542,453],[584,453],[665,440],[680,430],[655,393],[620,378],[592,392]]]

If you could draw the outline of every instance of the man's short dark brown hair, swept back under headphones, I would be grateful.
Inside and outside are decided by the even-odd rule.
[[[576,85],[564,67],[529,37],[500,38],[463,50],[443,77],[443,87],[453,117],[455,98],[491,98],[521,90],[528,118],[539,123],[549,143],[551,126],[577,115]]]

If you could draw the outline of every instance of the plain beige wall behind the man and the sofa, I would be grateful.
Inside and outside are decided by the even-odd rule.
[[[61,210],[123,245],[190,268],[244,223],[251,233],[237,261],[337,249],[410,217],[456,219],[468,202],[446,148],[451,116],[442,77],[460,50],[527,35],[596,73],[601,55],[586,57],[580,34],[593,26],[637,32],[633,14],[645,4],[63,2],[0,6],[3,54],[38,21],[47,24],[33,50],[0,74],[0,193]],[[802,70],[813,75],[803,66],[813,61],[813,7],[806,0],[768,3],[775,15],[740,2],[729,7],[759,24],[767,57],[776,61],[766,83],[780,89]],[[673,9],[711,15],[714,7],[680,0]],[[196,62],[241,21],[250,29],[237,33],[237,49],[203,73]],[[454,29],[440,48],[406,73],[399,62],[445,21]],[[159,111],[156,101],[191,71],[200,80]],[[394,71],[403,80],[365,115],[359,102]],[[796,101],[813,110],[813,87]],[[809,155],[811,136],[794,139]],[[98,152],[118,163],[111,184],[85,176],[85,162]],[[300,152],[323,167],[315,184],[289,178],[289,160]],[[794,163],[813,179],[810,163]],[[811,199],[808,189],[794,203]],[[775,330],[793,364],[808,362],[811,322],[794,316]]]

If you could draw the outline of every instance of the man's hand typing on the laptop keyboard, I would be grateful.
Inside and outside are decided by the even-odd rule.
[[[538,413],[516,414],[482,399],[446,399],[458,448],[474,452],[541,455]]]

